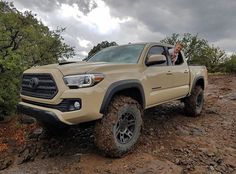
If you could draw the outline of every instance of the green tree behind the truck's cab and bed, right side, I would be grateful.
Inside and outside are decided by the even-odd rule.
[[[188,63],[205,65],[209,72],[218,71],[219,65],[227,58],[223,50],[209,45],[206,39],[202,39],[198,35],[185,33],[181,36],[180,34],[174,33],[161,42],[172,45],[177,42],[182,43],[184,46],[183,52],[188,59]]]

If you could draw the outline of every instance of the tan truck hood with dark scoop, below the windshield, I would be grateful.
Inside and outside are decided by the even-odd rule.
[[[137,67],[137,64],[119,64],[119,63],[108,63],[108,62],[76,62],[69,64],[51,64],[45,66],[35,67],[36,69],[58,69],[64,76],[82,73],[106,73],[109,71],[115,71],[126,69],[130,71]]]

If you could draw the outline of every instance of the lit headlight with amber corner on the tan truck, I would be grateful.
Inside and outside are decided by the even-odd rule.
[[[64,77],[66,85],[72,88],[84,88],[94,86],[103,79],[103,74],[80,74]]]

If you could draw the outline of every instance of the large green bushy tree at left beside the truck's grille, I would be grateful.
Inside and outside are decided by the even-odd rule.
[[[64,30],[50,31],[31,12],[21,13],[12,3],[0,1],[0,117],[14,111],[25,69],[74,55],[63,43]]]

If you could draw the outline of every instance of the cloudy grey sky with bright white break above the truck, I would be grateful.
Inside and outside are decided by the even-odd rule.
[[[172,33],[198,34],[227,53],[236,52],[236,0],[11,0],[32,11],[82,59],[101,41],[158,42]]]

